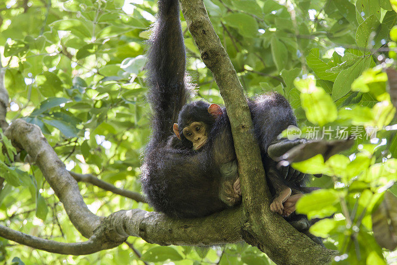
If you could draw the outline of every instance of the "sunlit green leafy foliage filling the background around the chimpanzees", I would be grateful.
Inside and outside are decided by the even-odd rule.
[[[387,202],[383,199],[387,189],[397,191],[396,109],[382,72],[387,66],[395,67],[394,2],[204,3],[247,95],[270,90],[283,94],[295,110],[303,136],[313,126],[331,126],[334,131],[347,127],[350,132],[361,128],[362,139],[357,137],[351,150],[326,163],[317,156],[296,165],[305,172],[327,175],[313,179],[311,185],[325,189],[302,199],[298,208],[311,217],[336,213],[334,219],[317,223],[313,233],[327,237],[328,248],[345,253],[337,258],[339,263],[396,262],[397,254],[382,249],[375,241],[377,233],[374,237],[371,232],[372,215],[380,220],[378,227],[391,229],[381,235],[390,235],[397,227],[397,220],[392,218],[389,225],[387,221],[387,215],[396,212],[395,197],[390,199],[393,207],[378,206]],[[11,100],[7,119],[23,118],[38,125],[68,170],[95,174],[117,187],[139,191],[140,157],[150,134],[144,52],[156,8],[155,1],[148,0],[2,1],[0,53]],[[181,18],[187,70],[198,85],[196,98],[222,103]],[[370,127],[379,129],[372,140],[363,130]],[[6,141],[2,144],[9,146]],[[1,224],[63,242],[84,240],[37,166],[9,163],[6,156],[2,161],[7,163],[0,165],[5,179],[0,192]],[[150,210],[147,204],[89,184],[79,183],[79,187],[90,210],[103,216],[119,209]],[[386,213],[372,214],[385,207]],[[393,237],[388,241],[392,250],[395,241]],[[73,257],[1,239],[0,259],[6,264],[271,263],[245,244],[201,250],[158,247],[139,238],[129,242],[135,252],[124,244]]]

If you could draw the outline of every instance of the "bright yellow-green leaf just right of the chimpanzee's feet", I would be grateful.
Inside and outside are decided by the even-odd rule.
[[[309,218],[324,218],[331,216],[334,206],[339,201],[340,194],[334,190],[318,190],[304,195],[296,203],[297,213],[306,214]]]

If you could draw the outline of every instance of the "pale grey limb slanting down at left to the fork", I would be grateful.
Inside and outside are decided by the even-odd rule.
[[[93,214],[84,203],[77,182],[70,176],[65,164],[47,142],[38,126],[15,120],[5,131],[14,145],[25,149],[36,161],[47,182],[64,204],[67,215],[76,229],[86,238],[92,236],[101,217]]]

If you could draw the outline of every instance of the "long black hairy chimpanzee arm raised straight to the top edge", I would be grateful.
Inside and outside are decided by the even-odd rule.
[[[190,95],[185,78],[186,53],[178,0],[159,0],[157,20],[150,38],[146,69],[148,101],[153,109],[153,135],[148,146],[165,143],[172,125]]]

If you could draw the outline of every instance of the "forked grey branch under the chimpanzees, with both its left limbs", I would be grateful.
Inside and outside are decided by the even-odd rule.
[[[198,219],[172,219],[162,213],[140,209],[118,211],[106,218],[96,216],[88,210],[79,193],[77,182],[66,171],[65,165],[38,126],[18,119],[5,134],[14,145],[25,149],[33,161],[36,161],[77,230],[84,236],[91,236],[92,243],[81,244],[92,244],[97,246],[96,250],[109,249],[122,244],[128,236],[141,237],[159,245],[211,246],[242,240],[241,227],[244,218],[241,207]],[[75,252],[74,245],[49,247],[50,241],[23,237],[22,233],[12,230],[3,231],[5,232],[1,236],[4,238],[38,249],[55,253],[62,251],[63,254],[71,255],[84,254]]]

